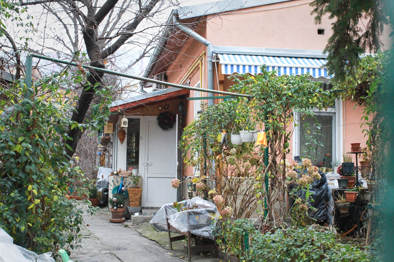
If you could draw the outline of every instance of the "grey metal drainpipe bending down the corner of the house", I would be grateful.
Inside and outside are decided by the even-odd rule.
[[[195,40],[199,41],[200,43],[204,44],[206,46],[206,56],[207,56],[207,67],[208,67],[208,73],[207,73],[207,78],[208,78],[208,89],[213,90],[214,89],[214,66],[212,62],[212,57],[214,54],[214,49],[212,46],[212,43],[206,40],[204,37],[201,35],[197,34],[195,31],[193,31],[190,27],[184,26],[180,23],[178,20],[178,10],[173,9],[172,11],[173,15],[173,24],[177,26],[180,30],[184,31],[187,33],[190,37],[193,37]],[[208,93],[208,96],[211,95],[211,93]],[[214,99],[208,99],[208,106],[212,106],[214,104]]]

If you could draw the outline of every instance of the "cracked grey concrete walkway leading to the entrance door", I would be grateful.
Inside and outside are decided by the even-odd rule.
[[[184,262],[184,243],[177,241],[173,242],[177,247],[177,251],[170,251],[166,246],[168,241],[164,241],[164,232],[157,232],[158,234],[151,235],[151,239],[145,238],[138,231],[147,232],[149,224],[140,224],[136,228],[138,231],[132,229],[132,225],[126,227],[119,223],[109,223],[108,218],[110,212],[106,212],[101,208],[100,211],[94,215],[84,214],[84,222],[89,225],[82,231],[82,247],[74,250],[70,258],[74,262]],[[154,231],[154,230],[153,230]],[[141,232],[142,233],[142,232]],[[155,238],[160,238],[156,240]],[[163,246],[161,246],[161,243]],[[179,243],[178,243],[179,242]],[[167,247],[165,249],[164,247]],[[195,254],[192,257],[192,262],[216,262],[220,261],[213,258],[210,254]]]

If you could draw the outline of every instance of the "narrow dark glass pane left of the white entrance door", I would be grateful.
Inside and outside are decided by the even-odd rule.
[[[127,127],[126,167],[138,169],[139,164],[139,118],[129,118]]]

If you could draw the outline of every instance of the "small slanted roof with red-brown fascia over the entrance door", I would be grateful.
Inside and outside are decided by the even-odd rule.
[[[121,99],[113,102],[110,105],[110,111],[125,111],[136,109],[141,106],[150,106],[165,100],[173,99],[182,95],[187,95],[189,93],[188,89],[181,89],[176,87],[169,87],[163,90],[158,90],[154,92],[149,92],[142,95],[137,95],[135,97],[130,97],[127,99]]]

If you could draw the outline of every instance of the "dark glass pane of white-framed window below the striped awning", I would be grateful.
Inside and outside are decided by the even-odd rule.
[[[301,158],[309,158],[318,167],[330,167],[333,155],[333,117],[331,115],[300,116],[299,151]]]

